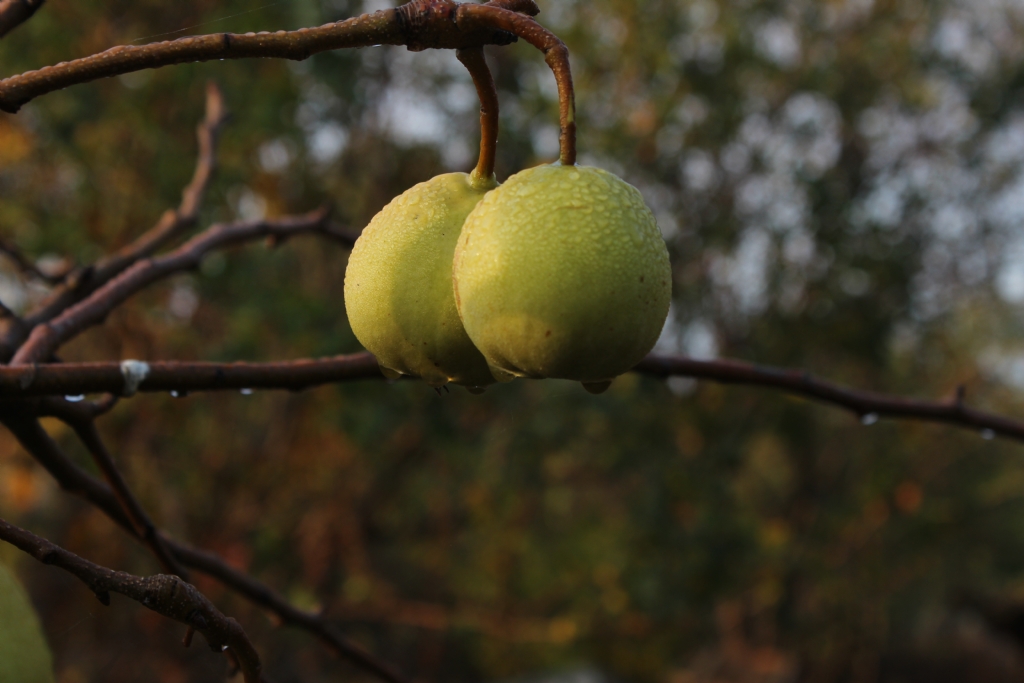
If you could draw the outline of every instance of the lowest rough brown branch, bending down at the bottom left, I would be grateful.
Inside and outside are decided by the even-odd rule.
[[[246,683],[260,683],[259,654],[246,632],[238,622],[224,616],[205,595],[178,577],[136,577],[108,569],[3,519],[0,519],[0,539],[43,564],[52,564],[78,577],[104,605],[111,603],[111,593],[119,593],[195,629],[203,634],[215,652],[231,651]]]

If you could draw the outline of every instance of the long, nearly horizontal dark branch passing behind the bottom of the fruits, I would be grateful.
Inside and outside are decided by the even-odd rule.
[[[325,384],[383,379],[376,359],[354,353],[318,360],[285,362],[152,362],[138,391],[218,391],[226,389],[299,390]],[[927,401],[857,391],[819,380],[802,370],[753,366],[736,360],[694,360],[678,355],[648,355],[634,372],[654,377],[762,386],[845,408],[861,418],[939,422],[988,435],[1024,440],[1024,421],[968,408],[959,398]],[[85,393],[123,393],[126,377],[116,362],[60,364],[0,368],[0,397]]]

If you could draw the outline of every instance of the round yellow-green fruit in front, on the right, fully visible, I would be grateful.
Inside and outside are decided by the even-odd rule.
[[[463,226],[454,279],[466,332],[499,379],[610,380],[654,346],[672,298],[640,193],[585,166],[528,169],[488,194]]]

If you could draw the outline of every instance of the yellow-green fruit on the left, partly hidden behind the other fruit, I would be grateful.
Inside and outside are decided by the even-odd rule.
[[[402,193],[355,243],[345,271],[352,332],[385,375],[432,386],[494,384],[459,319],[452,259],[466,216],[497,186],[447,173]]]

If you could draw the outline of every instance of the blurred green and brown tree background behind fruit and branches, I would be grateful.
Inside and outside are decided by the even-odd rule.
[[[0,42],[3,76],[186,27],[297,29],[392,6],[254,4],[50,0]],[[964,385],[973,405],[1024,415],[1024,4],[540,5],[571,52],[581,161],[637,185],[669,242],[659,351],[918,397]],[[556,91],[527,45],[487,58],[504,179],[557,157]],[[330,203],[357,230],[475,161],[478,102],[452,52],[165,68],[0,119],[2,234],[56,267],[142,232],[190,176],[210,79],[233,117],[204,224]],[[62,357],[356,351],[345,262],[313,238],[211,257]],[[0,268],[11,308],[45,293]],[[558,381],[483,396],[413,382],[148,395],[100,426],[172,536],[323,608],[420,681],[1024,680],[1016,650],[950,598],[1024,597],[1021,446],[983,434],[634,376],[602,396]],[[6,433],[0,516],[104,565],[159,571]],[[182,648],[177,625],[127,600],[103,608],[9,547],[0,556],[40,609],[61,683],[223,679],[224,660]],[[367,679],[196,581],[273,680]],[[907,673],[913,657],[965,652],[1007,678]]]

